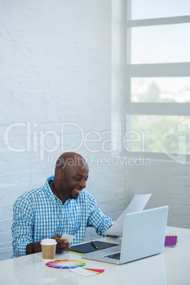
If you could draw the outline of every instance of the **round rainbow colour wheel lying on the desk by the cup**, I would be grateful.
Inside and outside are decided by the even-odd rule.
[[[72,269],[76,267],[83,267],[85,265],[85,262],[73,259],[60,259],[60,260],[47,262],[45,265],[47,265],[47,267],[52,267],[52,268]]]

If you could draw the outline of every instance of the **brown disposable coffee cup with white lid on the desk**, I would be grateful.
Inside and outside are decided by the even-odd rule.
[[[57,242],[53,238],[45,238],[40,242],[43,252],[43,259],[48,262],[55,260],[55,250]]]

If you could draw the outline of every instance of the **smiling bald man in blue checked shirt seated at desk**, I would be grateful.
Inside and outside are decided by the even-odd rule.
[[[13,257],[40,252],[43,238],[54,238],[57,252],[69,250],[62,235],[74,235],[73,245],[82,242],[86,227],[94,227],[97,234],[104,235],[114,221],[83,190],[88,176],[84,158],[65,152],[56,162],[54,177],[49,177],[43,187],[18,197],[13,205]]]

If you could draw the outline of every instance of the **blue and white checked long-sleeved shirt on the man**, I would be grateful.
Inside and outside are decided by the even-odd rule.
[[[96,205],[96,200],[83,190],[77,199],[64,205],[50,189],[54,177],[43,187],[22,194],[13,205],[13,257],[26,255],[26,245],[55,235],[75,235],[72,245],[82,242],[86,227],[94,227],[98,235],[113,225]]]

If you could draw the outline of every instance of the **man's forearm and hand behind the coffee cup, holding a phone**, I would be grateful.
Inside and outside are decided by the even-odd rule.
[[[55,237],[52,237],[57,241],[56,245],[56,252],[62,253],[65,250],[69,250],[70,244],[67,242],[67,240],[61,240],[61,235],[55,235]],[[30,242],[28,245],[26,245],[26,255],[31,255],[32,253],[41,252],[42,248],[40,245],[40,242]]]

